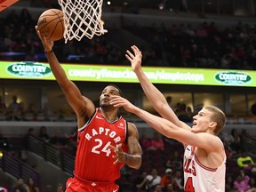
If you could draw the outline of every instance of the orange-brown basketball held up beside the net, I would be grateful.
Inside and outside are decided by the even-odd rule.
[[[37,20],[38,30],[47,40],[58,41],[63,38],[64,15],[58,9],[43,12]]]

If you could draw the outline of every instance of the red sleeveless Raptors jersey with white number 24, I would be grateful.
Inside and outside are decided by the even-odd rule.
[[[127,122],[121,116],[114,122],[108,122],[96,109],[92,118],[78,129],[75,175],[88,181],[112,182],[120,177],[120,168],[124,164],[113,164],[116,153],[108,148],[122,143],[126,145]]]

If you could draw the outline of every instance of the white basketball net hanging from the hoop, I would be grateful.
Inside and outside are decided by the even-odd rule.
[[[59,0],[64,13],[64,38],[76,38],[80,41],[84,36],[92,39],[94,35],[101,36],[108,31],[103,28],[101,20],[103,0]]]

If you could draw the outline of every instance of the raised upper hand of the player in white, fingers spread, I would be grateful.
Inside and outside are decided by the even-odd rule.
[[[140,49],[136,45],[132,45],[131,49],[133,53],[127,50],[125,57],[127,60],[130,60],[132,70],[136,71],[137,69],[141,68],[142,53],[140,52]]]

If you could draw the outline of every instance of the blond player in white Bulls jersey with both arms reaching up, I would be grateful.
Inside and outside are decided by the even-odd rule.
[[[138,47],[132,46],[126,58],[131,61],[132,70],[138,77],[141,87],[156,111],[163,117],[153,116],[135,107],[128,100],[116,96],[110,104],[124,107],[127,111],[139,116],[156,131],[166,137],[179,140],[184,152],[184,190],[186,192],[224,192],[226,174],[226,155],[219,137],[226,123],[226,116],[216,107],[204,107],[193,116],[192,128],[181,122],[164,95],[151,84],[141,68],[142,54]]]

